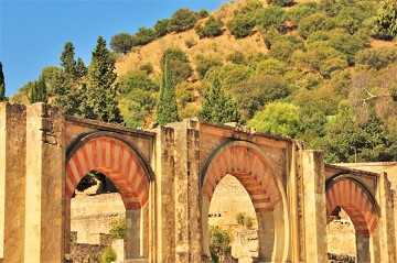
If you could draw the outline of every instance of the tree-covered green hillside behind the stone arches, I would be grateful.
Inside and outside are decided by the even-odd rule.
[[[196,116],[237,121],[258,132],[303,140],[308,147],[325,150],[329,162],[396,161],[395,1],[267,3],[228,3],[237,7],[228,17],[222,10],[208,15],[180,9],[153,29],[115,35],[115,53],[99,37],[88,68],[75,61],[67,43],[61,67],[44,68],[13,100],[32,97],[29,91],[45,79],[47,96],[67,114],[135,128]],[[161,42],[171,32],[180,37],[193,32],[198,39],[167,48],[160,70],[148,61],[116,77],[117,56],[139,55],[142,45]],[[239,43],[257,36],[267,48],[223,56],[210,45],[211,53],[190,55],[197,42],[225,34]]]

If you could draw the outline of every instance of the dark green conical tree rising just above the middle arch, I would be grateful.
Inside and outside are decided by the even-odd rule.
[[[210,89],[204,94],[202,107],[198,112],[201,120],[214,123],[239,121],[238,103],[233,97],[223,92],[218,76],[213,79]]]

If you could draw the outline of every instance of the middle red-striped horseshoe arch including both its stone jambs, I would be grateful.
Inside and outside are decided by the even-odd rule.
[[[259,261],[286,262],[289,218],[286,191],[261,149],[246,141],[228,141],[217,147],[201,173],[201,222],[203,254],[210,256],[208,209],[217,184],[227,174],[248,191],[259,228]]]

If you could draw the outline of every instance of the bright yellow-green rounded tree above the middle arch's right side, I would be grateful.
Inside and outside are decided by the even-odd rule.
[[[300,131],[299,111],[299,107],[291,103],[271,102],[257,112],[248,125],[259,132],[296,138]]]

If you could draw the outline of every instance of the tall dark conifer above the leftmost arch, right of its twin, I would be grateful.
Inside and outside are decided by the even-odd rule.
[[[99,36],[93,51],[87,74],[86,97],[82,103],[83,117],[105,122],[121,123],[118,108],[115,59],[106,48],[106,41]]]

